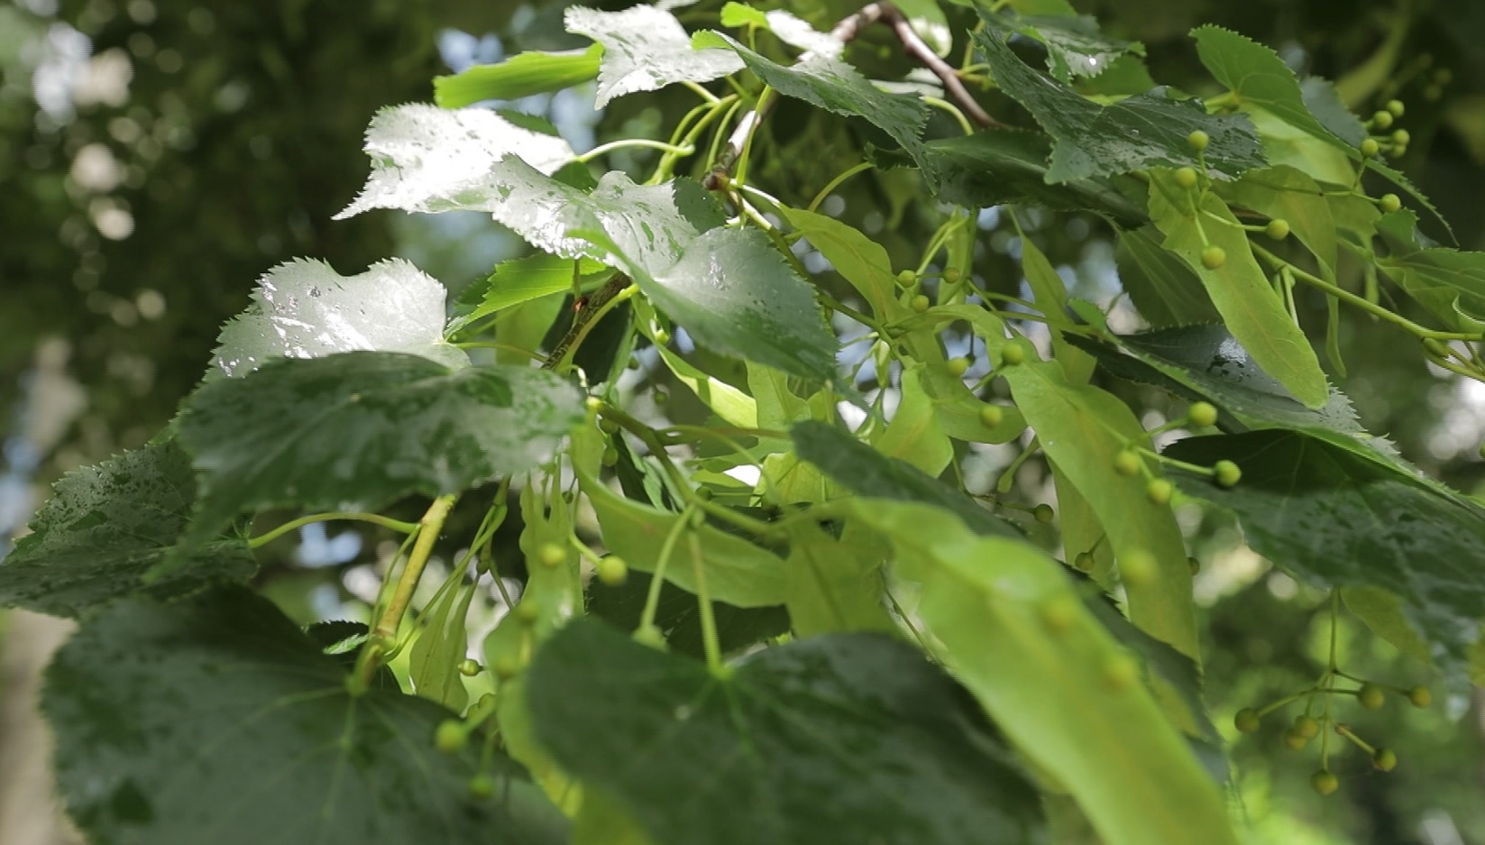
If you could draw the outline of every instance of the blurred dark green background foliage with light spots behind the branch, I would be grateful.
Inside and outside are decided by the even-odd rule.
[[[630,3],[598,3],[618,9]],[[780,3],[820,28],[857,0]],[[1402,166],[1454,224],[1460,245],[1485,248],[1485,3],[1478,0],[1074,0],[1106,33],[1145,42],[1152,76],[1201,94],[1210,82],[1185,37],[1215,22],[1276,48],[1302,73],[1341,83],[1371,114],[1406,104],[1412,143]],[[719,0],[679,10],[714,19]],[[59,474],[135,447],[174,413],[200,377],[220,324],[248,301],[255,279],[291,257],[328,260],[342,273],[401,254],[457,293],[518,254],[518,239],[480,215],[407,218],[392,212],[331,221],[367,172],[361,134],[383,105],[429,101],[431,79],[523,49],[566,49],[560,3],[508,0],[0,0],[0,549]],[[950,19],[964,9],[946,4]],[[962,49],[962,45],[959,45]],[[885,31],[858,39],[849,59],[898,79],[909,68]],[[595,113],[591,91],[505,104],[542,114],[579,151],[621,135],[664,137],[693,102],[685,91],[621,98]],[[1025,123],[1013,105],[996,111]],[[930,128],[952,134],[936,116]],[[943,123],[939,123],[943,122]],[[803,205],[860,160],[867,129],[784,102],[754,153],[754,180]],[[609,166],[639,174],[650,153],[625,150]],[[702,165],[696,162],[696,166]],[[941,221],[921,202],[912,171],[857,177],[824,205],[869,232],[898,267],[916,266]],[[1120,291],[1109,227],[1093,217],[1017,212],[1075,296],[1109,303]],[[1016,230],[985,209],[976,275],[1023,293]],[[1323,337],[1323,303],[1311,309]],[[1138,318],[1118,306],[1115,325]],[[1485,463],[1485,386],[1432,368],[1408,337],[1342,313],[1353,398],[1369,431],[1397,441],[1429,472],[1476,492]],[[1426,319],[1426,318],[1424,318]],[[967,342],[950,353],[965,353]],[[726,377],[725,364],[698,362]],[[653,364],[653,361],[650,361]],[[664,376],[642,367],[640,402],[656,410]],[[649,376],[646,376],[649,374]],[[971,371],[973,374],[973,371]],[[867,385],[872,386],[872,385]],[[888,385],[890,388],[890,385]],[[1149,425],[1167,399],[1109,385]],[[665,414],[701,414],[685,389]],[[961,454],[982,489],[1014,457],[1011,447]],[[1035,462],[1028,489],[1045,489]],[[1197,579],[1209,631],[1209,695],[1221,722],[1308,685],[1329,636],[1325,596],[1273,572],[1231,526],[1181,511],[1203,561]],[[517,526],[502,530],[514,539]],[[389,557],[385,538],[306,529],[269,547],[263,588],[300,621],[355,613]],[[431,579],[437,581],[437,579]],[[478,627],[478,625],[475,625]],[[0,619],[0,631],[3,631]],[[1399,686],[1429,670],[1342,619],[1339,642],[1357,674]],[[3,691],[0,691],[3,695]],[[1402,765],[1369,772],[1342,757],[1345,784],[1320,799],[1308,789],[1313,750],[1285,751],[1282,725],[1234,747],[1234,797],[1250,842],[1485,845],[1485,708],[1472,691],[1439,692],[1442,705],[1400,699],[1356,729],[1396,748]],[[1347,768],[1348,766],[1348,768]]]

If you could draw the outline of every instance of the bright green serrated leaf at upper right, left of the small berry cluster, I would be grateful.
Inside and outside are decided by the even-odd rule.
[[[1191,37],[1197,40],[1201,64],[1237,97],[1238,108],[1256,105],[1290,126],[1341,147],[1353,157],[1359,156],[1356,147],[1335,137],[1310,114],[1299,80],[1279,53],[1222,27],[1197,27]]]

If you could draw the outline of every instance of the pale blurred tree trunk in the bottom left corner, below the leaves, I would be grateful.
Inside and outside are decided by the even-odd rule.
[[[37,713],[42,670],[71,633],[65,619],[12,610],[0,650],[0,842],[82,845],[52,790],[52,735]]]

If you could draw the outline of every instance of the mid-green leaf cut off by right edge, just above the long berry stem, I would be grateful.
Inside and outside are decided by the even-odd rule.
[[[1418,247],[1418,217],[1411,211],[1384,214],[1377,233],[1390,254],[1377,266],[1449,331],[1485,330],[1485,252]]]

